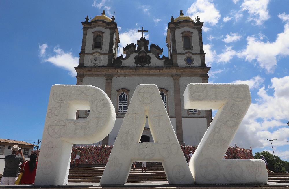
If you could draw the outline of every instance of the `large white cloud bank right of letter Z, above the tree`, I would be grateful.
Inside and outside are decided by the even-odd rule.
[[[289,76],[272,78],[269,88],[274,91],[272,95],[268,94],[265,86],[259,89],[256,103],[251,104],[231,144],[237,143],[247,148],[249,146],[271,147],[271,143],[264,139],[278,139],[274,141],[275,146],[287,144]]]

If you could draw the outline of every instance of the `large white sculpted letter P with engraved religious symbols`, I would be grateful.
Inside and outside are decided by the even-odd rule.
[[[76,110],[90,110],[75,120]],[[53,85],[40,148],[35,185],[65,185],[72,144],[91,144],[112,130],[115,110],[108,96],[90,85]]]

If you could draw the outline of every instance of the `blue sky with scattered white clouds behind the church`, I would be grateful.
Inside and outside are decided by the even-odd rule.
[[[144,3],[145,2],[145,3]],[[0,138],[41,139],[50,87],[75,84],[84,17],[115,15],[120,48],[149,30],[164,48],[171,16],[199,16],[210,83],[246,83],[252,104],[233,143],[289,160],[289,1],[0,1]],[[121,52],[119,52],[121,54]],[[214,111],[215,113],[215,111]]]

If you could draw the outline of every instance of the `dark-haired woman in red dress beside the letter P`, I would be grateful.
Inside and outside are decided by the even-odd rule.
[[[30,155],[30,161],[24,162],[21,166],[21,170],[23,170],[23,176],[21,178],[20,184],[33,184],[35,180],[36,175],[36,169],[37,169],[37,154],[34,152]]]

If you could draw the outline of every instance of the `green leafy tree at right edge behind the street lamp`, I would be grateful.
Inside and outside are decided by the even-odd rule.
[[[268,168],[276,172],[276,168],[278,166],[280,173],[288,173],[289,172],[289,162],[281,160],[278,156],[275,156],[276,164],[274,161],[274,156],[268,151],[256,152],[254,159],[261,159],[261,154],[264,156],[268,163]]]

